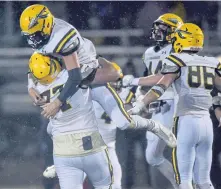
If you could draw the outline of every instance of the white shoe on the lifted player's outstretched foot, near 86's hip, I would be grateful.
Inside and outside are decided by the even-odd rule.
[[[175,148],[177,145],[176,137],[172,133],[171,130],[164,127],[160,123],[155,123],[155,127],[153,127],[152,132],[157,135],[159,138],[164,140],[164,142],[170,146],[171,148]]]

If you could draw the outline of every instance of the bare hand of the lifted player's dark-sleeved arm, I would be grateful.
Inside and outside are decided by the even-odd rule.
[[[53,102],[41,106],[43,108],[41,114],[48,119],[53,118],[59,112],[61,105],[61,101],[55,99]]]

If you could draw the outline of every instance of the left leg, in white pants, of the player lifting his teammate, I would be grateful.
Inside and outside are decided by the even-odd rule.
[[[81,157],[54,156],[54,165],[61,189],[82,189],[84,172]]]

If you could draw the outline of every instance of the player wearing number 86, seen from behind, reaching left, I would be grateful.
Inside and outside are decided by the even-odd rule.
[[[173,150],[173,166],[179,189],[213,189],[210,181],[213,126],[209,116],[212,105],[210,91],[221,89],[221,64],[216,58],[199,56],[204,35],[195,24],[186,23],[175,32],[172,53],[163,61],[162,79],[145,97],[137,101],[132,114],[157,100],[174,83],[178,95],[174,133],[177,147]]]

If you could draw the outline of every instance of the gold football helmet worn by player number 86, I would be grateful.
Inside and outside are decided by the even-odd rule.
[[[203,48],[203,31],[196,24],[185,23],[175,31],[172,41],[176,53],[182,51],[198,52]]]

